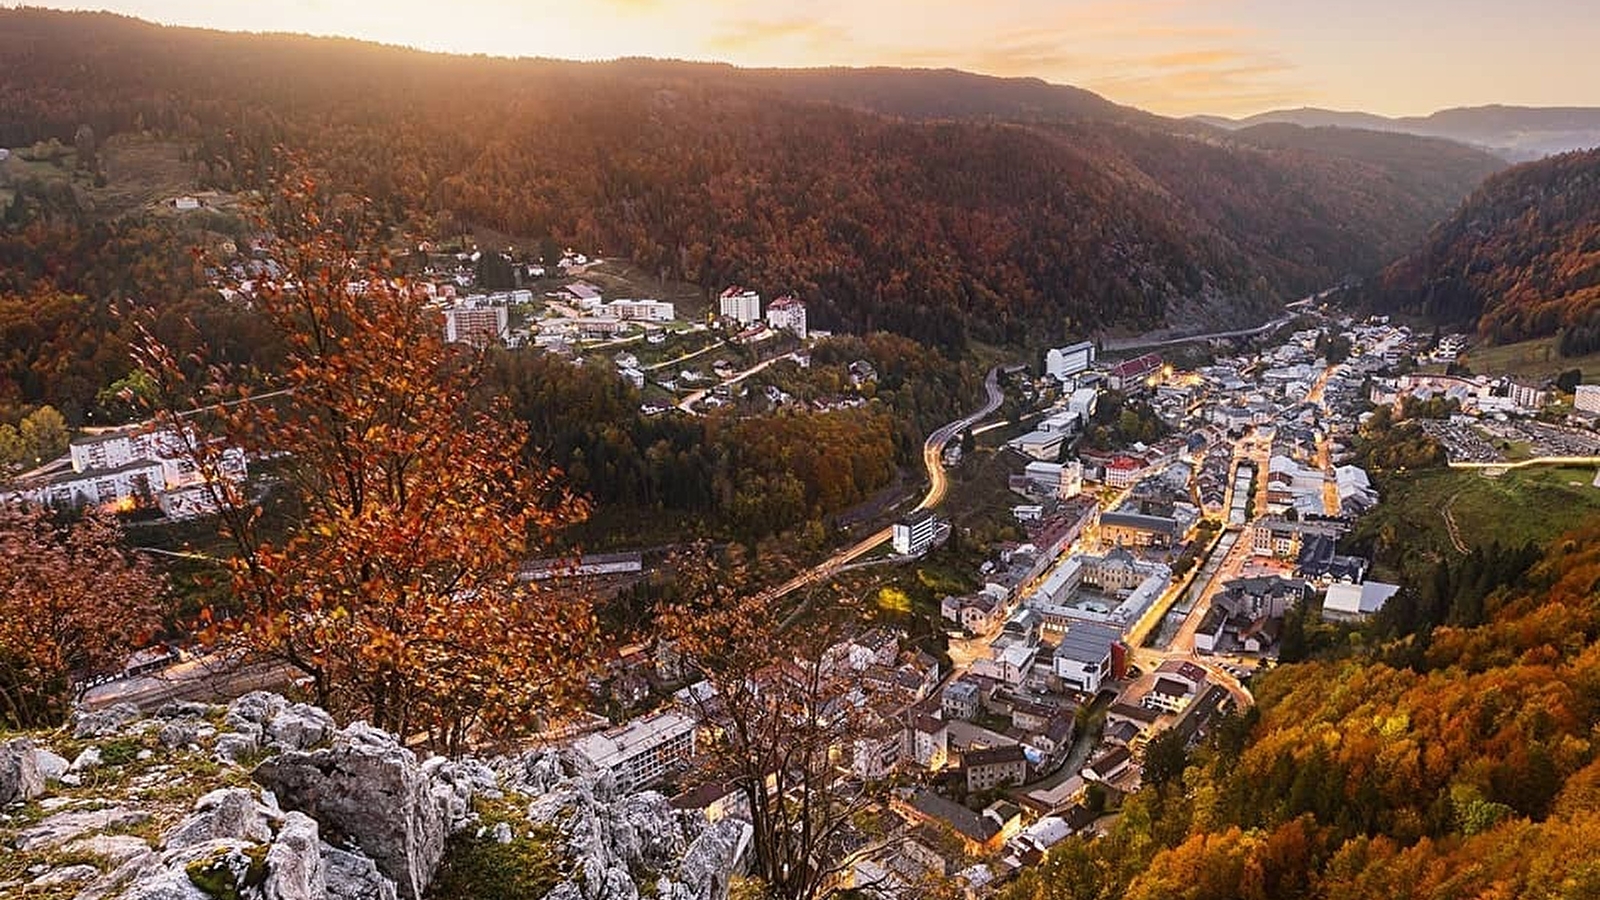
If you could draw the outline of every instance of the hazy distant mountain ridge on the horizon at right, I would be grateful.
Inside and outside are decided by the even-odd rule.
[[[1400,119],[1371,112],[1301,107],[1278,109],[1245,119],[1195,115],[1190,120],[1229,130],[1286,123],[1302,128],[1398,131],[1461,141],[1496,152],[1510,162],[1528,162],[1566,151],[1600,147],[1600,107],[1586,106],[1472,106]]]

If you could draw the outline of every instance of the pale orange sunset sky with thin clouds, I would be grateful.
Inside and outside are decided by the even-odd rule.
[[[35,5],[38,0],[34,0]],[[1035,75],[1162,112],[1600,106],[1594,0],[99,0],[453,53]]]

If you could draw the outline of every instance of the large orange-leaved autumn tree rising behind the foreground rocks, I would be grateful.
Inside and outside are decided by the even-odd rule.
[[[163,396],[197,397],[184,423],[165,416],[200,471],[221,474],[224,447],[200,436],[226,436],[275,460],[301,508],[270,540],[246,485],[211,479],[242,605],[213,637],[288,666],[318,705],[456,751],[568,708],[582,685],[589,604],[517,573],[584,508],[530,463],[504,404],[478,394],[482,359],[445,343],[387,259],[357,250],[371,243],[365,208],[331,207],[301,178],[272,208],[283,274],[250,299],[288,348],[270,397],[208,407],[242,399],[242,380],[154,340],[141,362]]]

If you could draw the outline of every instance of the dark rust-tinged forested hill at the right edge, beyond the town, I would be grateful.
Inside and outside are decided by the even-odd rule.
[[[1491,178],[1368,301],[1494,343],[1560,333],[1565,356],[1600,349],[1600,151]]]

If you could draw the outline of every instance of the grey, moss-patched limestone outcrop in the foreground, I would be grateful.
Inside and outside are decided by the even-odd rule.
[[[51,735],[0,741],[0,854],[24,862],[0,895],[422,900],[461,834],[554,841],[555,900],[725,900],[749,842],[749,825],[621,794],[555,753],[418,759],[274,693],[155,717],[110,708],[70,733],[58,748],[72,764]]]

